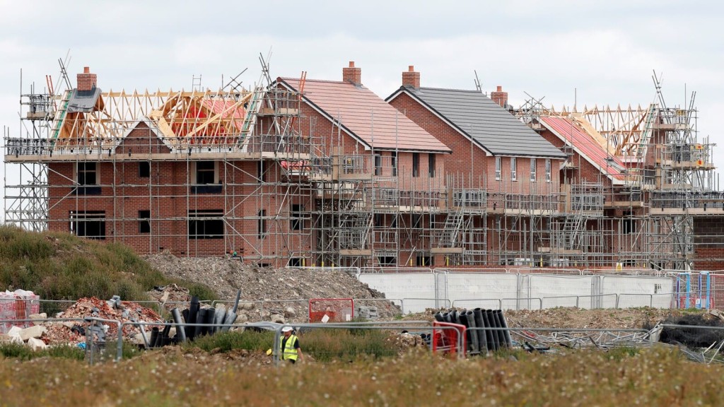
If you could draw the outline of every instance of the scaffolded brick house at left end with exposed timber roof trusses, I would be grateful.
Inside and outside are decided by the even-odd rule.
[[[251,89],[80,93],[22,95],[32,127],[5,132],[6,172],[21,181],[6,182],[8,224],[141,253],[232,253],[261,265],[310,256],[319,140],[302,135],[298,93],[269,75]]]

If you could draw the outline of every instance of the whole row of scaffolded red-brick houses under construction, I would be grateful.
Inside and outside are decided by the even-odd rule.
[[[272,267],[724,269],[724,193],[696,94],[508,104],[341,78],[104,91],[85,67],[21,91],[5,222],[138,253]],[[340,80],[341,79],[341,80]],[[17,175],[16,177],[10,175]]]

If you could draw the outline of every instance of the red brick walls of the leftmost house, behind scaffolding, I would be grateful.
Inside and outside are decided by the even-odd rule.
[[[268,182],[279,180],[280,168],[269,163]],[[308,240],[300,234],[308,233],[309,225],[302,232],[290,233],[288,221],[290,204],[306,204],[308,196],[300,195],[298,190],[285,191],[293,187],[259,185],[256,165],[257,161],[219,162],[222,192],[191,193],[188,184],[193,163],[190,161],[153,161],[149,178],[139,177],[138,161],[101,162],[98,164],[101,195],[75,196],[69,195],[75,179],[75,164],[50,163],[49,214],[54,220],[49,229],[68,232],[70,211],[105,211],[106,241],[125,243],[139,253],[169,250],[177,255],[207,256],[236,250],[250,258],[261,254],[287,256],[289,251],[300,250],[301,243]],[[292,198],[285,198],[287,196]],[[203,209],[222,209],[227,214],[225,239],[187,237],[188,211]],[[279,222],[267,221],[268,234],[264,239],[258,239],[257,221],[253,219],[260,209],[265,209],[269,218],[277,214],[282,218]],[[151,211],[149,234],[138,231],[136,218],[141,210]],[[279,243],[280,240],[284,243]],[[308,244],[306,250],[309,250]]]

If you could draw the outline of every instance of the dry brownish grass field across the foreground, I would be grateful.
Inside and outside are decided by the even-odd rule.
[[[153,351],[88,366],[70,358],[0,359],[0,405],[52,406],[721,406],[723,366],[673,348],[567,355],[507,353],[282,365]]]

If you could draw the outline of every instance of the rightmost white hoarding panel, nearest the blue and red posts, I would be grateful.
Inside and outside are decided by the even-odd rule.
[[[599,278],[602,294],[618,294],[618,308],[652,306],[668,309],[673,306],[670,293],[674,292],[674,280],[671,277],[607,275]],[[608,300],[605,305],[605,308],[614,307]]]

